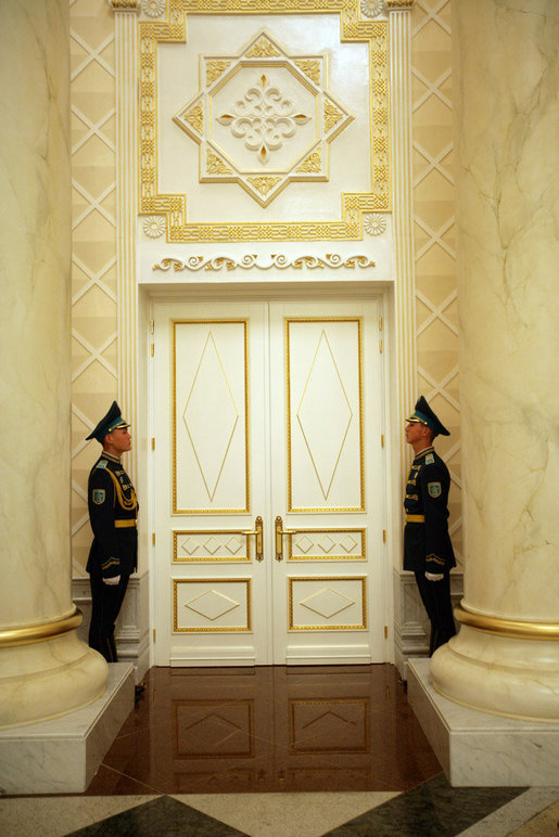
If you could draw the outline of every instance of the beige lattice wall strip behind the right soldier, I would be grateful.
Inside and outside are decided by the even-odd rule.
[[[450,0],[416,0],[411,15],[417,386],[450,430],[437,448],[453,479],[450,531],[461,553]]]

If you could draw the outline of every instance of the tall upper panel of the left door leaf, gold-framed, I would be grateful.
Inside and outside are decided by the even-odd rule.
[[[171,323],[173,512],[249,511],[249,323]]]

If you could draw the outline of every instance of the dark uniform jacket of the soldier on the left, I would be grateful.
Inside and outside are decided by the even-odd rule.
[[[137,566],[138,500],[120,460],[105,451],[89,475],[88,506],[93,543],[87,571],[103,578],[129,576]]]

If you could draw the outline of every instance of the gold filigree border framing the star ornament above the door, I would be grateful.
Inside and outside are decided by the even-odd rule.
[[[343,42],[368,42],[371,192],[343,192],[339,221],[189,223],[187,195],[160,193],[157,182],[157,43],[185,42],[187,14],[340,14]],[[386,21],[364,21],[359,0],[169,0],[167,21],[139,23],[140,215],[163,214],[167,242],[360,241],[363,214],[390,209],[389,38]]]

